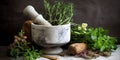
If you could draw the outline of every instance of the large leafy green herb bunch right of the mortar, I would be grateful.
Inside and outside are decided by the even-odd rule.
[[[117,48],[116,39],[107,35],[107,30],[99,28],[87,28],[86,23],[72,26],[71,30],[72,43],[85,42],[89,49],[100,52],[110,52]]]

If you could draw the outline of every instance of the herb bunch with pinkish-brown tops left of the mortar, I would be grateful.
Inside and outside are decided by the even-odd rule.
[[[12,57],[18,58],[19,56],[24,56],[25,60],[35,60],[42,54],[41,51],[35,49],[34,46],[26,40],[27,36],[24,36],[22,30],[18,36],[14,36],[14,38],[14,42],[10,44],[9,47],[9,53]]]

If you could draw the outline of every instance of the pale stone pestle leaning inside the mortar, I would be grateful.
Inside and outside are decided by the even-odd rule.
[[[28,5],[27,7],[24,8],[23,13],[25,15],[28,15],[32,20],[33,23],[37,23],[40,25],[48,25],[52,26],[46,19],[43,18],[41,14],[39,14],[33,6]]]

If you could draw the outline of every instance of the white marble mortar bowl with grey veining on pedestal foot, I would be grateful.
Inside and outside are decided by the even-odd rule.
[[[57,26],[31,24],[32,40],[44,47],[46,54],[59,54],[63,51],[60,46],[70,41],[70,23]]]

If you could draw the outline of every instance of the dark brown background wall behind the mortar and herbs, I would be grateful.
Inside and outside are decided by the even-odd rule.
[[[54,0],[49,0],[52,3]],[[74,4],[74,21],[86,22],[89,26],[104,27],[111,36],[120,37],[120,0],[59,0]],[[43,0],[1,0],[0,2],[0,45],[13,42],[22,24],[28,20],[23,13],[27,5],[33,5],[41,13]]]

